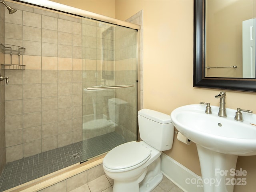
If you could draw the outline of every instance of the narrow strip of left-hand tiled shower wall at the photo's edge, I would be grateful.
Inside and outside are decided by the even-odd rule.
[[[4,44],[4,5],[0,5],[0,42]],[[4,63],[4,54],[0,52],[0,64]],[[2,76],[5,75],[4,70],[0,68]],[[5,155],[5,120],[4,120],[4,85],[5,81],[0,82],[0,174],[6,163]]]

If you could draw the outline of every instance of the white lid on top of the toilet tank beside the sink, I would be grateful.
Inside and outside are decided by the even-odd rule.
[[[168,124],[172,122],[171,116],[158,112],[158,111],[154,111],[151,109],[142,109],[139,110],[138,115],[143,116],[145,118],[148,118],[150,120],[153,120],[155,122],[161,123],[161,124]]]

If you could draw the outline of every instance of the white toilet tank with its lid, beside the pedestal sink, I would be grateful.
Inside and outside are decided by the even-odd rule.
[[[138,112],[140,138],[159,151],[172,148],[174,125],[170,115],[150,109]]]

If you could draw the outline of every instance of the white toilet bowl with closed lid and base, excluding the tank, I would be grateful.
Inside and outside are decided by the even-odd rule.
[[[113,192],[142,191],[139,190],[138,184],[145,178],[148,165],[159,158],[158,166],[160,166],[160,154],[160,151],[144,141],[128,142],[111,150],[104,158],[103,168],[106,175],[114,179]],[[145,186],[154,188],[158,185],[158,181],[162,180],[162,173],[158,166],[154,166],[155,170],[151,170],[156,172],[153,175],[156,178],[148,177],[148,180],[144,181]]]

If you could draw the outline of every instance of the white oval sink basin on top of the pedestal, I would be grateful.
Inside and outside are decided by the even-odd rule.
[[[171,113],[174,126],[188,139],[209,150],[239,156],[256,155],[256,114],[243,112],[244,121],[234,120],[236,110],[226,108],[226,118],[218,116],[218,106],[192,104]]]

